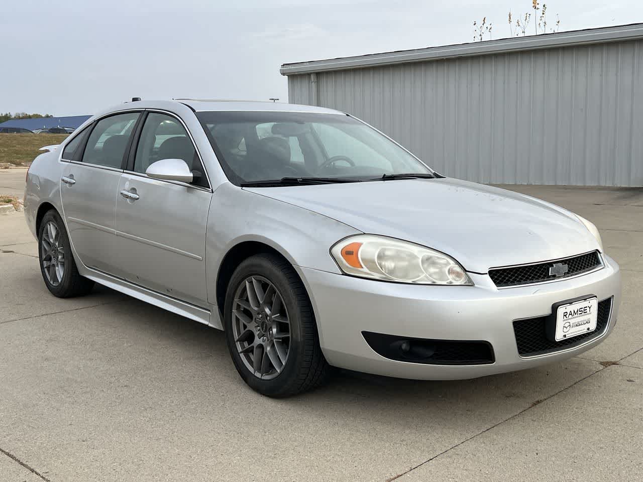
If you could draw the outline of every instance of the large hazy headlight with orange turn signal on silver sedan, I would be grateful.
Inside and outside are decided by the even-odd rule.
[[[341,271],[361,278],[422,285],[473,285],[453,258],[394,238],[351,236],[335,244],[331,254]]]

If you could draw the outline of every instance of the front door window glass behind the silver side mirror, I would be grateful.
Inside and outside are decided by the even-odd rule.
[[[150,112],[136,148],[134,172],[145,174],[150,165],[161,159],[183,159],[194,175],[192,184],[208,187],[201,161],[185,127],[172,116]]]

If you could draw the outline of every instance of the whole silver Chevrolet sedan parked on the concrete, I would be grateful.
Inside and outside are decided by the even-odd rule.
[[[591,222],[444,177],[344,112],[138,101],[45,150],[24,212],[51,293],[100,283],[224,330],[264,395],[332,367],[530,368],[616,323],[619,266]]]

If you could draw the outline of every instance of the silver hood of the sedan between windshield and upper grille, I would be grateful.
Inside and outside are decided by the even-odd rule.
[[[574,214],[533,197],[459,179],[246,188],[348,224],[421,244],[467,271],[599,249]]]

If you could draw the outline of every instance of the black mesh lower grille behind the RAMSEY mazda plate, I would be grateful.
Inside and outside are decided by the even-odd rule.
[[[547,337],[547,322],[550,316],[518,319],[514,321],[514,334],[518,353],[522,356],[542,355],[571,348],[585,343],[588,339],[599,337],[605,332],[610,321],[611,298],[599,302],[596,330],[561,341],[552,341]]]

